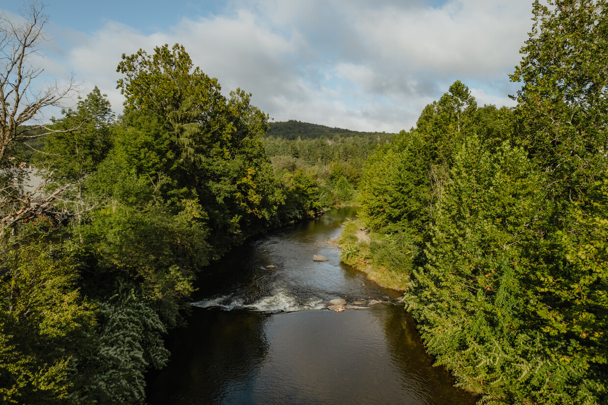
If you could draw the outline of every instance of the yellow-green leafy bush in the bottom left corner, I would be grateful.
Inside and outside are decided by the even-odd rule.
[[[44,240],[12,246],[0,260],[0,396],[3,403],[64,403],[73,359],[95,324],[78,274]]]

